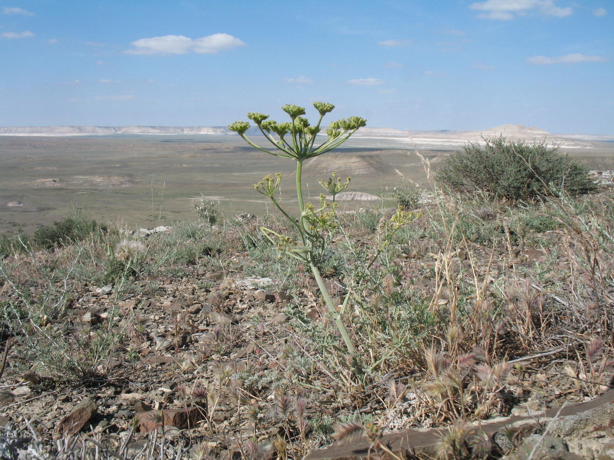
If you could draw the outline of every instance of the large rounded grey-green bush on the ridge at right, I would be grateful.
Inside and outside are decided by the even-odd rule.
[[[508,141],[503,136],[484,142],[472,142],[449,156],[435,175],[437,181],[453,191],[511,201],[577,195],[597,188],[588,169],[558,153],[558,147]]]

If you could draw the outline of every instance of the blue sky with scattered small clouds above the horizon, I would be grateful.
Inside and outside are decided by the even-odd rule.
[[[11,0],[0,126],[224,126],[324,101],[372,127],[614,134],[613,31],[612,0]]]

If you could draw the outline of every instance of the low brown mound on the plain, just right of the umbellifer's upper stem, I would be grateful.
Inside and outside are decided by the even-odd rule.
[[[316,156],[308,161],[311,171],[330,174],[335,171],[338,176],[349,175],[389,175],[396,174],[394,166],[384,161],[381,155],[356,155],[352,153],[335,153],[334,155]]]

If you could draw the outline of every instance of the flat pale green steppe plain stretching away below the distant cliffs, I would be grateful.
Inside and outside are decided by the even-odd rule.
[[[379,196],[403,181],[424,185],[429,181],[423,159],[436,169],[462,148],[462,139],[450,132],[414,139],[352,137],[306,164],[306,190],[317,201],[323,191],[317,179],[326,180],[332,171],[352,177],[348,191]],[[265,146],[262,137],[254,140]],[[612,142],[577,136],[567,142],[569,148],[559,144],[590,169],[614,169]],[[77,209],[101,222],[152,228],[196,218],[192,201],[201,195],[219,201],[227,215],[262,214],[270,205],[252,184],[281,172],[282,201],[292,203],[294,168],[293,161],[249,147],[238,136],[0,136],[0,231],[32,232]],[[348,201],[341,207],[367,205],[381,201]]]

